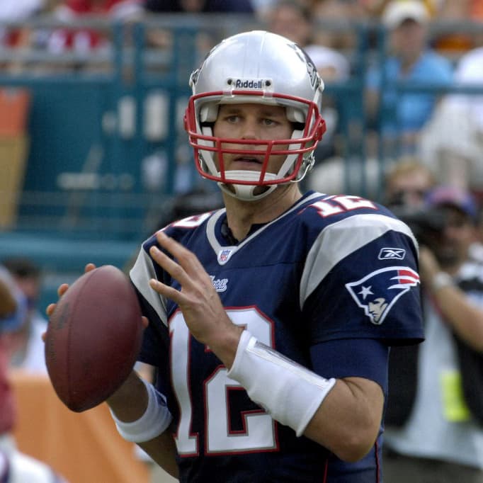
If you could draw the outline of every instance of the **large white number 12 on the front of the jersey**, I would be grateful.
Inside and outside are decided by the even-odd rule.
[[[272,347],[272,322],[254,307],[228,309],[232,322],[244,326],[251,334]],[[180,455],[198,455],[198,435],[191,432],[193,402],[189,390],[190,343],[193,340],[181,311],[176,312],[169,322],[171,334],[171,377],[174,392],[178,399],[180,418],[176,432],[176,447]],[[205,440],[207,454],[238,453],[249,451],[273,450],[276,448],[275,423],[271,416],[263,411],[242,414],[244,431],[229,431],[230,390],[241,390],[238,382],[227,377],[227,369],[220,367],[204,382],[205,387]]]

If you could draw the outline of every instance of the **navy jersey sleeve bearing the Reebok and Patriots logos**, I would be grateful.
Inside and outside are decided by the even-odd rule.
[[[366,237],[372,234],[369,230]],[[421,341],[419,275],[409,242],[406,233],[389,230],[357,248],[346,246],[340,260],[330,266],[323,263],[324,250],[317,252],[319,270],[307,271],[310,275],[302,286],[314,287],[307,290],[302,305],[313,343],[365,338]]]

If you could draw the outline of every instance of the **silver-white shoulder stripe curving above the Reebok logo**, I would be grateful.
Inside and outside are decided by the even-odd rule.
[[[418,248],[411,229],[401,220],[385,215],[354,215],[324,228],[307,254],[300,280],[300,307],[339,261],[390,230],[411,237]]]

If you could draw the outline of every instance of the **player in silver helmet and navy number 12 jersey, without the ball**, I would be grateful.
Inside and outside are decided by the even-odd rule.
[[[149,325],[108,399],[120,434],[182,482],[382,482],[387,357],[423,339],[417,246],[355,195],[302,195],[324,84],[264,31],[191,75],[186,130],[225,208],[171,223],[130,272]]]

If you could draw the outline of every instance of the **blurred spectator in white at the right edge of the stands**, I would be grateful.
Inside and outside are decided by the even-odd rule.
[[[455,87],[481,89],[445,96],[421,133],[420,152],[438,181],[483,197],[483,47],[460,58]]]

